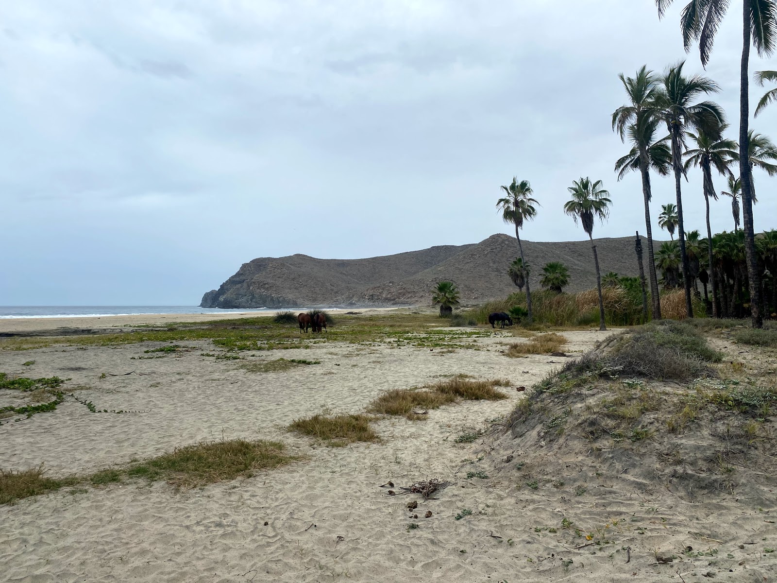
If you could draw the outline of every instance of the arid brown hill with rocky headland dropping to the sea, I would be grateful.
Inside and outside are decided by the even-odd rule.
[[[597,239],[602,274],[639,273],[634,238]],[[567,292],[596,285],[591,245],[587,241],[533,243],[524,241],[532,266],[531,286],[539,288],[542,266],[561,261],[570,270]],[[646,246],[643,242],[643,246]],[[514,237],[492,235],[470,245],[434,246],[420,251],[368,259],[316,259],[299,253],[260,257],[242,264],[218,290],[207,292],[204,308],[273,308],[302,306],[423,305],[438,281],[454,281],[462,302],[501,298],[517,291],[507,266],[517,256]]]

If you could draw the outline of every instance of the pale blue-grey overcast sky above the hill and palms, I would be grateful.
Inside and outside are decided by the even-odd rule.
[[[660,20],[653,0],[4,2],[0,305],[197,305],[254,257],[514,234],[495,208],[513,176],[542,204],[525,239],[586,238],[562,211],[580,176],[613,200],[594,236],[644,232],[639,176],[613,172],[618,74],[687,59],[737,137],[740,16],[705,72],[682,5]],[[775,122],[777,105],[752,126],[777,138]],[[756,230],[777,226],[772,180],[756,173]],[[673,201],[655,178],[653,218]],[[698,171],[683,201],[704,232]],[[724,198],[712,225],[733,228]]]

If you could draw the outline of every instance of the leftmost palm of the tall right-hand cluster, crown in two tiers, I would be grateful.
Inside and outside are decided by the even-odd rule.
[[[647,239],[648,275],[650,276],[650,300],[653,304],[653,319],[661,319],[661,304],[658,295],[658,278],[656,275],[655,257],[653,254],[653,227],[650,225],[650,169],[662,173],[659,160],[664,160],[664,153],[653,149],[653,135],[657,127],[652,103],[657,91],[657,77],[643,65],[633,77],[618,75],[629,98],[629,105],[618,107],[612,113],[612,129],[617,131],[622,141],[629,139],[633,145],[632,152],[636,148],[638,154],[636,163],[639,175],[642,178],[642,197],[645,206],[645,229]],[[660,143],[660,142],[659,142]],[[621,159],[622,160],[622,159]],[[623,169],[632,169],[632,162],[623,162],[618,180],[622,177]],[[618,160],[620,162],[620,160]],[[618,162],[615,171],[618,172]],[[659,166],[656,167],[656,163]],[[668,164],[668,161],[664,162]],[[627,170],[628,171],[628,170]],[[664,169],[664,173],[666,170]]]

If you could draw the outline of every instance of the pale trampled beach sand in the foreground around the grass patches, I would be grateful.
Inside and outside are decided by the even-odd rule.
[[[564,335],[567,353],[580,354],[608,333]],[[307,459],[193,490],[127,482],[66,488],[2,506],[0,579],[514,583],[681,581],[679,573],[691,583],[708,580],[702,575],[714,571],[716,581],[775,580],[767,579],[775,573],[773,555],[761,553],[775,543],[774,524],[758,511],[738,508],[733,497],[711,506],[678,503],[660,486],[635,494],[614,476],[579,495],[563,484],[535,489],[506,471],[526,452],[511,452],[507,463],[493,459],[493,452],[510,447],[503,431],[457,443],[465,433],[498,428],[524,394],[517,387],[530,386],[566,361],[507,358],[501,352],[507,340],[517,339],[495,333],[476,339],[478,350],[452,352],[326,343],[246,353],[250,361],[321,361],[265,373],[200,356],[213,350],[204,341],[182,342],[192,348],[155,360],[131,357],[159,343],[2,351],[4,372],[67,376],[65,388],[98,409],[142,411],[92,414],[70,399],[53,413],[3,424],[5,470],[42,463],[52,476],[86,473],[222,438],[280,440]],[[35,364],[23,366],[30,360]],[[331,448],[284,430],[299,417],[357,413],[385,390],[457,373],[509,379],[509,399],[442,407],[424,421],[382,418],[375,422],[382,439],[376,444]],[[586,463],[569,460],[567,471],[576,473]],[[470,472],[490,479],[468,479]],[[455,484],[428,501],[392,497],[381,487],[391,480],[398,490],[430,477]],[[409,512],[411,500],[419,505]],[[456,519],[465,509],[472,515]],[[424,518],[427,510],[430,518]],[[622,522],[612,527],[613,542],[598,549],[587,546],[584,536],[563,531],[564,518],[586,532]],[[735,560],[726,559],[726,568],[708,566],[726,557],[733,544],[751,542],[734,551],[741,553]],[[715,549],[716,555],[690,560],[682,556],[686,546]],[[683,558],[658,564],[657,550]],[[739,560],[744,567],[737,567]],[[729,572],[728,564],[737,572]]]

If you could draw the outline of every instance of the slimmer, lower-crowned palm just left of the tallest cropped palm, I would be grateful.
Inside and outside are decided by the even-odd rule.
[[[702,169],[702,192],[704,193],[707,221],[707,264],[710,266],[710,269],[712,269],[713,264],[713,229],[709,225],[709,198],[712,197],[713,200],[718,200],[718,195],[713,186],[713,166],[718,173],[730,176],[729,166],[738,157],[736,141],[718,138],[723,131],[726,131],[727,127],[724,124],[712,135],[703,130],[696,134],[692,131],[686,132],[688,138],[694,143],[695,148],[685,150],[685,171],[687,172],[691,166],[699,166]],[[712,285],[713,317],[717,318],[718,288],[715,278],[712,278]]]

